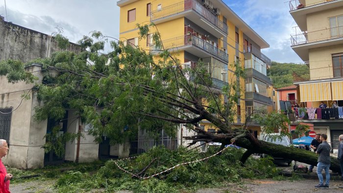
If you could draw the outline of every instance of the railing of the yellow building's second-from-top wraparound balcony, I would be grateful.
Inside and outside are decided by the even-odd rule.
[[[220,58],[221,60],[228,62],[228,54],[221,51],[219,48],[213,46],[212,44],[206,42],[205,40],[196,37],[195,35],[188,34],[176,38],[172,38],[169,40],[162,41],[162,45],[165,49],[171,49],[171,48],[178,48],[182,46],[195,46],[197,48],[200,48],[207,53],[210,53],[214,55],[217,58]],[[152,52],[159,51],[162,48],[156,48],[155,46],[150,46],[150,50]]]

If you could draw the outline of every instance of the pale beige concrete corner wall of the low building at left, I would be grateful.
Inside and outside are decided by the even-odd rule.
[[[29,72],[39,77],[37,83],[41,82],[42,75],[34,71],[40,69],[40,65],[27,68]],[[15,168],[43,167],[44,150],[41,146],[45,144],[43,137],[46,134],[47,121],[37,122],[33,119],[33,107],[40,105],[30,90],[33,85],[34,83],[25,84],[25,82],[8,83],[5,76],[0,76],[0,108],[13,108],[8,142],[10,150],[2,161]],[[24,93],[29,93],[31,98],[22,100],[21,95]]]

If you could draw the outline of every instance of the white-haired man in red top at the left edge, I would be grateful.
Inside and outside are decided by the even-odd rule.
[[[1,161],[1,159],[7,155],[7,152],[8,146],[6,140],[0,140],[0,193],[10,193],[9,180],[12,178],[12,174],[7,173],[7,170]]]

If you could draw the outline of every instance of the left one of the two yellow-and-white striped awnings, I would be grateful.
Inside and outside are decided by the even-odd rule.
[[[300,102],[331,100],[330,82],[299,84]]]

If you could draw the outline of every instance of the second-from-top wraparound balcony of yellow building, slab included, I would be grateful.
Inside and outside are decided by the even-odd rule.
[[[162,45],[164,49],[169,49],[170,51],[185,50],[199,58],[215,57],[225,63],[229,61],[227,53],[192,34],[164,40],[162,41]],[[162,48],[150,46],[150,51],[154,54],[159,53],[161,49]]]

